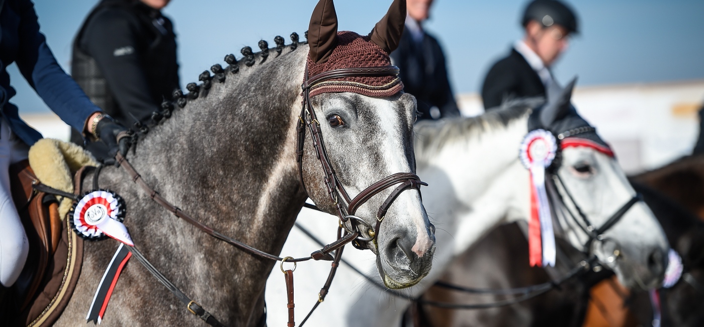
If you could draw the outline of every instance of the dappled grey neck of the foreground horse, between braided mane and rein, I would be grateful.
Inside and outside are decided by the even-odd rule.
[[[275,58],[271,49],[267,61],[256,56],[225,82],[213,80],[207,94],[176,107],[127,156],[172,204],[275,253],[305,199],[295,128],[308,47],[287,51]]]

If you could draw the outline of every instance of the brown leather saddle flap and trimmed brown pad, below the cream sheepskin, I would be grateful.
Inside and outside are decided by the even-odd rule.
[[[8,320],[13,326],[51,326],[68,304],[80,276],[83,239],[73,232],[68,219],[58,215],[56,197],[32,188],[39,180],[28,161],[10,167],[10,181],[30,252],[13,285],[17,307]]]

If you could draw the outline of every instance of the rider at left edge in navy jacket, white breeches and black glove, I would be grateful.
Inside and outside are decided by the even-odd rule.
[[[20,73],[49,108],[65,123],[113,150],[127,153],[129,137],[118,147],[117,135],[127,129],[92,104],[80,87],[56,63],[30,0],[0,0],[0,298],[17,280],[27,259],[29,244],[13,204],[8,168],[27,159],[29,147],[42,135],[30,128],[10,99],[7,66],[17,63]]]

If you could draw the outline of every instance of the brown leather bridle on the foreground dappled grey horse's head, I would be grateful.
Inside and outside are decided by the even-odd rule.
[[[308,125],[308,130],[310,130],[310,136],[313,140],[313,147],[315,148],[315,154],[318,156],[318,160],[322,166],[322,171],[325,173],[323,180],[325,187],[327,187],[327,194],[332,201],[335,211],[337,211],[336,214],[340,220],[340,226],[343,226],[347,233],[359,234],[358,237],[356,237],[356,239],[352,242],[352,244],[358,249],[363,249],[366,247],[363,242],[373,241],[376,245],[376,237],[379,235],[379,229],[382,226],[382,221],[384,221],[386,211],[389,210],[389,206],[394,203],[394,200],[398,197],[398,195],[401,195],[401,192],[415,189],[420,193],[420,185],[427,186],[427,183],[423,183],[414,173],[394,173],[393,175],[373,183],[360,192],[359,195],[351,198],[342,183],[340,183],[337,178],[337,174],[335,173],[334,168],[332,168],[332,163],[327,155],[325,142],[322,140],[320,122],[318,121],[318,118],[315,115],[315,109],[313,109],[310,102],[310,89],[316,84],[325,82],[326,80],[348,77],[379,77],[398,75],[398,72],[399,70],[396,66],[343,68],[329,70],[325,73],[320,73],[308,78],[308,67],[306,66],[306,80],[303,82],[303,85],[301,85],[301,88],[303,89],[303,105],[301,108],[301,115],[298,116],[298,126],[296,127],[296,131],[298,132],[298,149],[296,150],[296,154],[298,156],[298,172],[301,178],[301,185],[303,185],[303,188],[305,189],[306,186],[303,181],[303,144],[306,140],[306,125]],[[372,227],[362,218],[355,216],[357,209],[359,209],[362,204],[365,204],[369,201],[369,199],[379,194],[379,192],[382,192],[399,183],[401,183],[401,185],[398,185],[398,187],[396,187],[391,194],[386,197],[386,200],[382,203],[382,205],[379,206],[376,217],[376,226]],[[364,226],[364,228],[360,228],[360,225]],[[367,237],[365,237],[364,234],[366,234]]]

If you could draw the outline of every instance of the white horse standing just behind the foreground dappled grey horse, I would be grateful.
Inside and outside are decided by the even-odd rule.
[[[541,116],[551,117],[545,125],[555,135],[569,130],[571,125],[586,124],[570,106],[571,92],[572,85],[564,91],[551,90],[550,103],[541,109]],[[437,247],[431,273],[405,294],[422,295],[443,275],[455,256],[465,252],[495,226],[528,221],[530,178],[519,159],[519,148],[529,131],[529,117],[532,113],[541,113],[536,109],[541,102],[540,99],[511,101],[477,118],[423,122],[416,126],[417,169],[429,183],[423,193],[423,203],[437,227]],[[579,136],[598,137],[596,132]],[[664,271],[668,245],[662,228],[646,204],[637,202],[631,206],[619,221],[605,230],[599,237],[601,240],[594,240],[589,248],[584,248],[589,237],[582,230],[587,226],[580,228],[577,222],[581,221],[567,218],[565,210],[576,216],[578,206],[593,226],[599,228],[634,197],[635,192],[617,161],[597,151],[596,147],[588,146],[562,149],[558,160],[555,173],[564,187],[558,186],[557,191],[565,198],[565,205],[555,210],[563,213],[555,218],[558,237],[595,255],[600,264],[615,271],[620,282],[628,287],[657,286]],[[321,218],[310,218],[302,213],[298,219],[302,226],[320,235],[317,229]],[[310,242],[306,239],[306,235],[294,228],[284,249],[295,251],[298,242]],[[367,257],[367,264],[359,265],[364,258],[351,254],[355,255],[350,257],[351,261],[369,275],[373,258]],[[324,313],[313,314],[306,326],[332,326],[331,323],[334,326],[399,326],[408,300],[388,294],[345,266],[338,274],[338,280],[321,304]],[[312,270],[307,270],[306,276],[305,281],[298,280],[298,283],[306,283],[307,289],[306,294],[299,291],[296,295],[298,308],[306,303],[304,301],[315,299],[312,290],[323,278]],[[281,290],[277,287],[273,280],[268,283],[269,303],[280,302]],[[281,323],[275,310],[276,307],[272,307],[270,311],[271,326]]]

